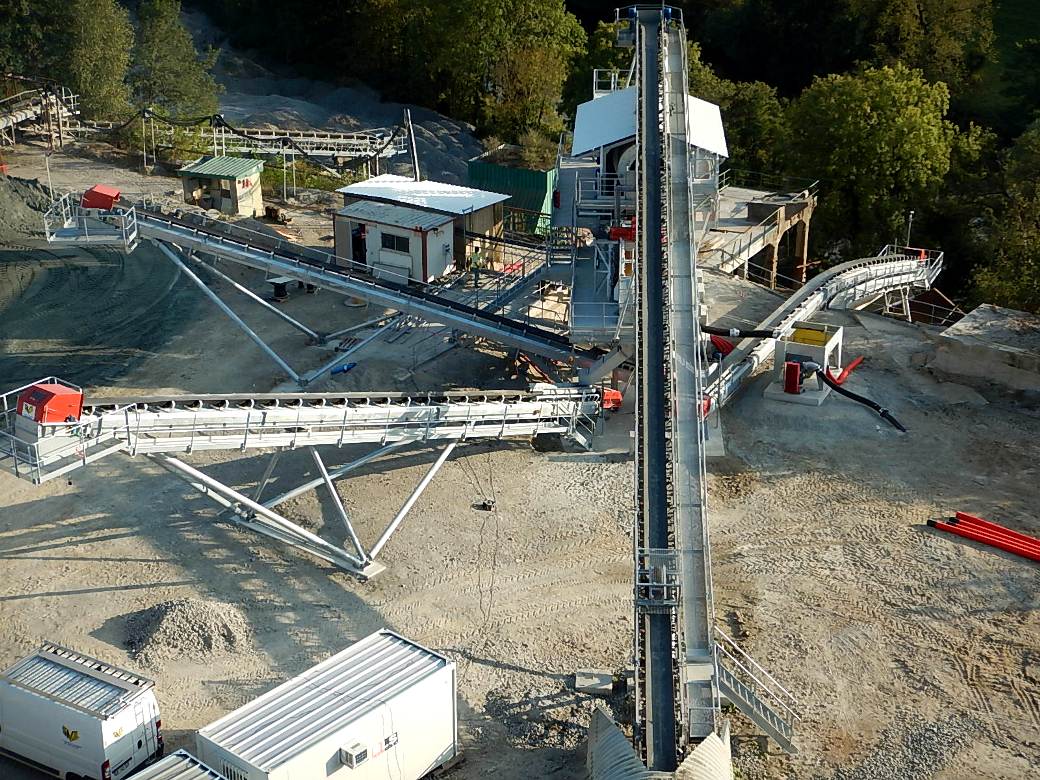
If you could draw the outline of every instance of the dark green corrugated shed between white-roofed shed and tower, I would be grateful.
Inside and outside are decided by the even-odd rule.
[[[526,164],[520,147],[501,144],[466,163],[470,186],[510,196],[505,226],[517,233],[544,234],[552,225],[552,193],[556,166]]]

